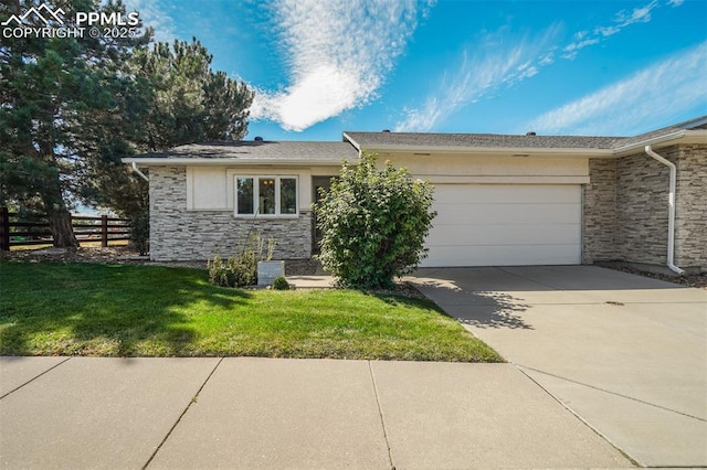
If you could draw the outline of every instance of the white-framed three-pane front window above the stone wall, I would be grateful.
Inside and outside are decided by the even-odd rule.
[[[236,177],[236,215],[296,215],[296,177]]]

